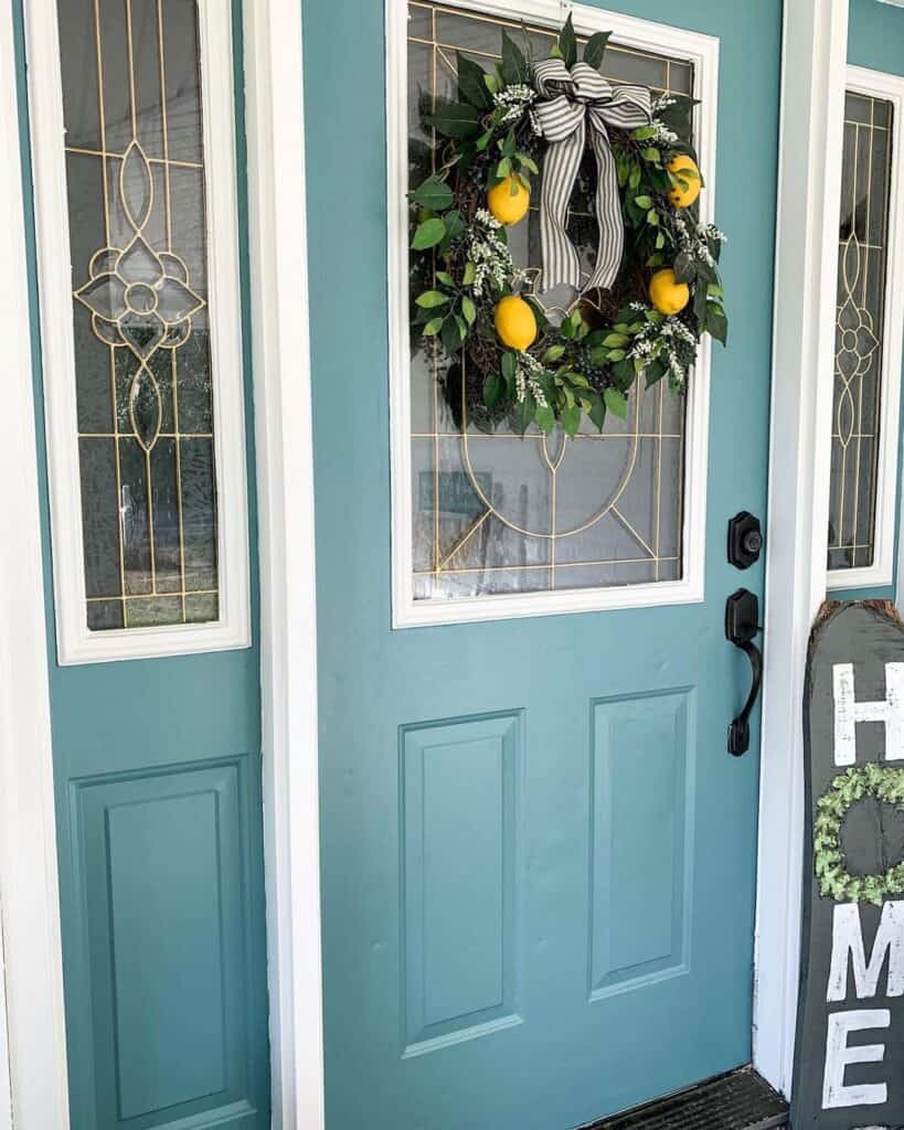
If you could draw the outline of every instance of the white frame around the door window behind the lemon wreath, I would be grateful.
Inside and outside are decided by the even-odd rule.
[[[468,8],[472,0],[449,0]],[[480,10],[514,21],[560,26],[564,6],[559,0],[481,0]],[[701,198],[701,218],[713,218],[715,203],[715,134],[719,98],[719,41],[605,11],[588,5],[567,5],[579,34],[612,32],[614,42],[694,64],[696,136],[701,171],[707,189]],[[646,608],[703,600],[706,541],[706,470],[710,400],[710,340],[704,338],[699,360],[688,391],[685,437],[685,527],[684,576],[659,584],[620,585],[611,589],[579,589],[478,597],[462,600],[415,600],[412,577],[412,486],[410,450],[410,347],[408,294],[408,50],[407,5],[386,2],[386,150],[389,223],[389,318],[390,318],[390,409],[392,432],[392,616],[393,627],[427,624],[460,624],[520,616],[586,612],[608,608]]]

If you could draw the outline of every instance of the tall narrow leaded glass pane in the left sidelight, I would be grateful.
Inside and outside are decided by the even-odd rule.
[[[87,620],[218,619],[195,0],[60,0]]]

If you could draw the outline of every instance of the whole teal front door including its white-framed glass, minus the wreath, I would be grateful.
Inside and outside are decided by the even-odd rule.
[[[328,1128],[565,1130],[751,1057],[724,608],[763,574],[725,530],[765,519],[781,5],[573,9],[610,79],[701,99],[731,329],[686,397],[564,441],[466,420],[409,345],[403,194],[457,53],[566,8],[388,3],[304,5]]]

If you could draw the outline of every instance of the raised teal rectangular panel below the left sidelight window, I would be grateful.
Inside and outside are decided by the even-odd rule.
[[[246,758],[72,800],[98,1128],[254,1124]]]

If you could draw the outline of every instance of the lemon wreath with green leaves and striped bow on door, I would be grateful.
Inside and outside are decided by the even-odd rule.
[[[435,172],[409,194],[414,322],[452,358],[479,426],[560,425],[573,436],[585,415],[601,431],[607,411],[626,416],[638,377],[683,392],[703,333],[725,342],[724,236],[699,223],[694,103],[610,85],[608,38],[593,35],[579,61],[570,16],[550,56],[534,61],[503,31],[495,70],[459,53],[459,101],[424,115]],[[542,269],[532,272],[513,261],[508,231],[528,215],[541,167]],[[575,215],[575,186],[588,216]],[[583,245],[594,232],[588,269],[572,237]],[[564,308],[541,302],[540,287],[567,294]]]

